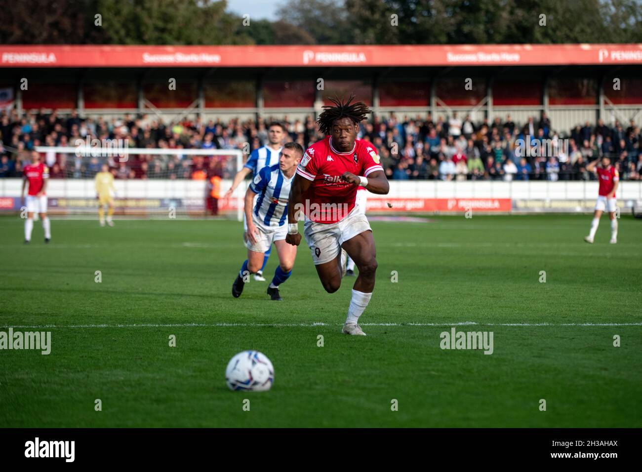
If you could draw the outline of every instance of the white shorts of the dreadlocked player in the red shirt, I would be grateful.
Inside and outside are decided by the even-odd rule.
[[[315,265],[324,264],[336,258],[341,245],[357,234],[370,229],[370,223],[358,207],[338,223],[316,223],[306,220],[303,234],[312,254]],[[370,231],[372,231],[370,229]]]

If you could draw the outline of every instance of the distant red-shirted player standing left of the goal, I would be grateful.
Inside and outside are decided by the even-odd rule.
[[[33,213],[39,213],[42,219],[42,228],[44,229],[44,242],[51,240],[51,226],[47,216],[47,181],[49,179],[49,169],[40,162],[40,154],[36,151],[31,152],[31,164],[27,164],[22,169],[22,206],[24,206],[24,188],[29,182],[29,193],[27,195],[27,220],[24,222],[24,243],[31,241],[31,230],[33,229]]]

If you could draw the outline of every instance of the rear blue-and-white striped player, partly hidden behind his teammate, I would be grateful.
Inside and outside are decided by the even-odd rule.
[[[271,167],[279,163],[281,143],[285,135],[286,129],[281,123],[277,123],[276,121],[270,123],[270,126],[268,126],[268,144],[252,151],[249,159],[247,160],[247,162],[245,162],[245,166],[243,166],[243,168],[239,170],[234,176],[232,187],[225,193],[225,198],[232,197],[232,192],[234,192],[234,189],[236,189],[239,184],[243,182],[243,179],[245,179],[245,177],[247,177],[250,172],[252,172],[252,178],[254,178],[263,168]],[[256,202],[256,200],[254,201]],[[247,231],[247,220],[245,219],[243,220],[243,229]],[[272,248],[268,248],[268,250],[265,252],[265,256],[263,257],[263,265],[261,266],[261,270],[254,274],[254,280],[265,281],[265,279],[263,278],[263,269],[268,263],[270,250],[272,250]]]

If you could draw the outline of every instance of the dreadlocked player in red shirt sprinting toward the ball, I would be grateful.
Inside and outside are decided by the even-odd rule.
[[[319,279],[328,293],[339,290],[346,253],[359,268],[343,333],[365,336],[358,324],[368,306],[377,270],[372,229],[355,206],[357,188],[385,195],[390,189],[372,143],[357,139],[358,126],[372,112],[363,101],[330,99],[317,119],[325,138],[303,154],[290,188],[286,242],[301,241],[297,217],[305,215],[304,235]]]

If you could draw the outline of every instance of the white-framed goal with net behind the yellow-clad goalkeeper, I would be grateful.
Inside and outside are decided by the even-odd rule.
[[[36,146],[49,167],[49,213],[82,215],[98,209],[95,177],[103,164],[114,175],[116,215],[150,218],[223,215],[242,219],[249,184],[225,198],[245,156],[238,149]]]

